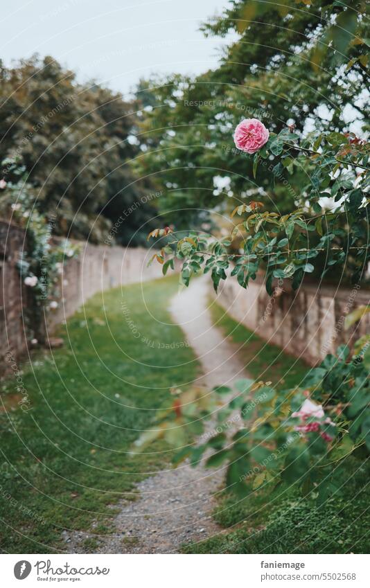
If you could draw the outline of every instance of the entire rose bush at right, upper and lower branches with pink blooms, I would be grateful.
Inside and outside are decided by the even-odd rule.
[[[182,284],[187,286],[201,271],[209,272],[217,290],[220,280],[228,276],[236,276],[238,283],[247,287],[263,270],[267,292],[272,295],[277,279],[292,280],[293,289],[297,289],[303,276],[315,269],[315,258],[324,252],[322,275],[328,267],[347,264],[353,280],[360,280],[369,262],[369,144],[351,133],[302,138],[286,128],[267,135],[258,122],[242,121],[236,127],[236,145],[253,154],[255,176],[263,161],[272,162],[277,181],[283,169],[300,166],[306,170],[310,178],[306,204],[283,215],[261,211],[261,202],[240,204],[233,216],[245,219],[234,226],[228,238],[197,231],[177,237],[175,231],[156,229],[149,238],[164,240],[155,254],[163,264],[163,273],[175,267],[177,258],[182,260]],[[345,224],[340,222],[342,216]],[[238,251],[231,249],[236,235],[242,235]],[[369,310],[362,309],[360,316],[355,310],[353,320]],[[346,326],[350,323],[351,317],[346,317]],[[328,355],[318,368],[309,371],[302,387],[292,390],[278,393],[270,382],[246,380],[236,384],[237,394],[225,386],[216,389],[215,395],[234,394],[233,400],[218,410],[221,429],[236,410],[240,411],[238,423],[246,418],[248,422],[239,424],[231,438],[222,429],[200,445],[186,445],[186,434],[176,445],[182,447],[176,460],[189,456],[192,463],[198,463],[211,448],[213,454],[206,463],[226,465],[227,487],[242,497],[269,484],[299,485],[304,493],[321,500],[340,492],[346,479],[345,458],[367,458],[370,450],[369,338],[358,341],[355,350],[349,359],[349,348],[341,346],[337,356]],[[254,403],[251,417],[245,407],[256,394],[263,400]],[[188,403],[185,407],[180,395],[177,413],[170,411],[164,416],[160,434],[172,430],[173,418],[179,430],[187,431],[192,416],[199,416],[196,408],[189,415],[188,411]],[[207,419],[212,412],[208,407],[200,414]]]

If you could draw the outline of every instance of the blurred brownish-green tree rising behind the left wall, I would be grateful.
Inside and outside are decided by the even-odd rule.
[[[129,166],[141,152],[139,106],[94,82],[79,84],[51,57],[1,67],[0,179],[14,181],[23,167],[35,209],[55,216],[58,235],[103,242],[116,224],[109,242],[143,244],[155,198]]]

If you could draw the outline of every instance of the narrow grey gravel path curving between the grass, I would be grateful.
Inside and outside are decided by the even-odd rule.
[[[224,339],[212,324],[206,308],[209,280],[198,278],[177,294],[170,306],[173,321],[181,326],[199,358],[203,375],[195,384],[213,387],[229,385],[247,377],[236,355],[236,347]],[[212,426],[212,423],[211,423]],[[222,487],[224,472],[202,464],[190,467],[184,462],[136,485],[141,497],[121,501],[109,537],[64,532],[70,553],[83,553],[88,537],[100,540],[97,553],[176,553],[186,542],[196,542],[222,529],[211,518],[213,494]]]

